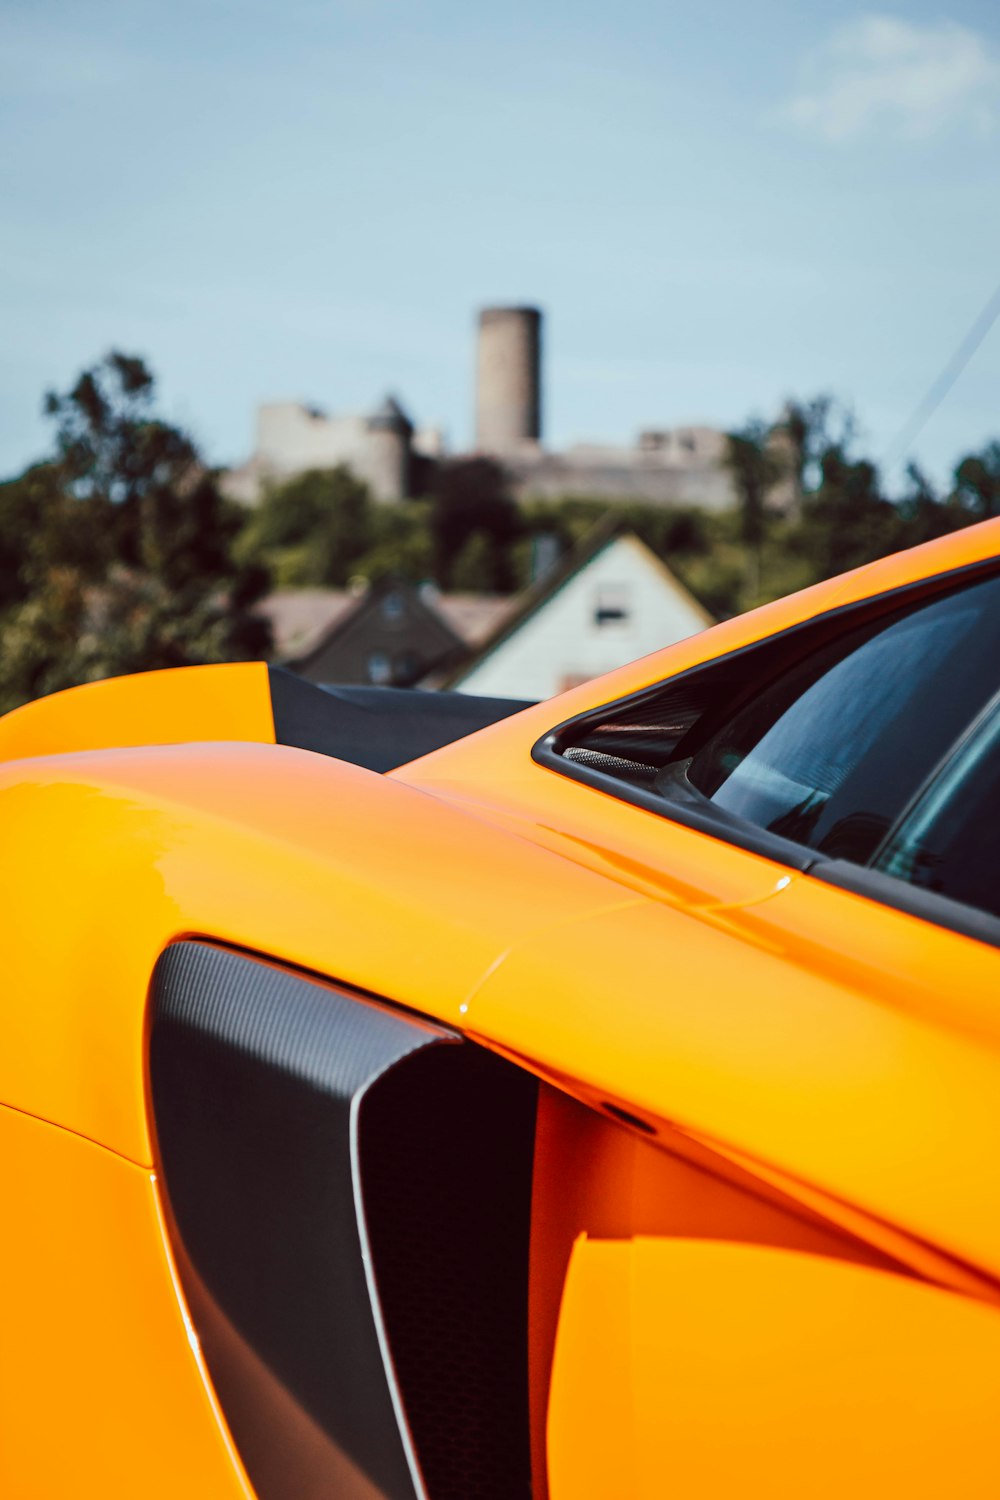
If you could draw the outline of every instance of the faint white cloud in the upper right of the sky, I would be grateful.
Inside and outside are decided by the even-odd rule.
[[[1000,60],[951,21],[864,15],[831,36],[808,75],[783,116],[831,142],[876,132],[921,140],[955,124],[985,132],[1000,104]]]

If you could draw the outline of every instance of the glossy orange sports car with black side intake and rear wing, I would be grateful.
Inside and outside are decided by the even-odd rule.
[[[1000,1496],[1000,522],[555,702],[0,722],[0,1494]]]

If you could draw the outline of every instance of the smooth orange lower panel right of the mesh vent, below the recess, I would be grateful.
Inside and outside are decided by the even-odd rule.
[[[868,1266],[697,1239],[573,1248],[553,1496],[1000,1491],[1000,1312]]]

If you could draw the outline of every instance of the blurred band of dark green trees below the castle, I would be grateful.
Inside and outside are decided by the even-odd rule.
[[[49,394],[46,412],[51,454],[0,484],[0,711],[115,674],[267,656],[255,604],[271,588],[391,574],[511,592],[609,504],[720,618],[1000,514],[1000,444],[963,458],[940,492],[912,466],[889,496],[825,398],[730,434],[738,502],[724,513],[586,495],[516,504],[489,459],[436,465],[429,494],[402,504],[334,468],[247,510],[156,414],[153,376],[124,354]]]

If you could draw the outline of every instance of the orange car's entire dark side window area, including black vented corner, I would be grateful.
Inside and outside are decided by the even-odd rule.
[[[691,668],[556,726],[532,756],[1000,942],[1000,572],[943,582]]]

